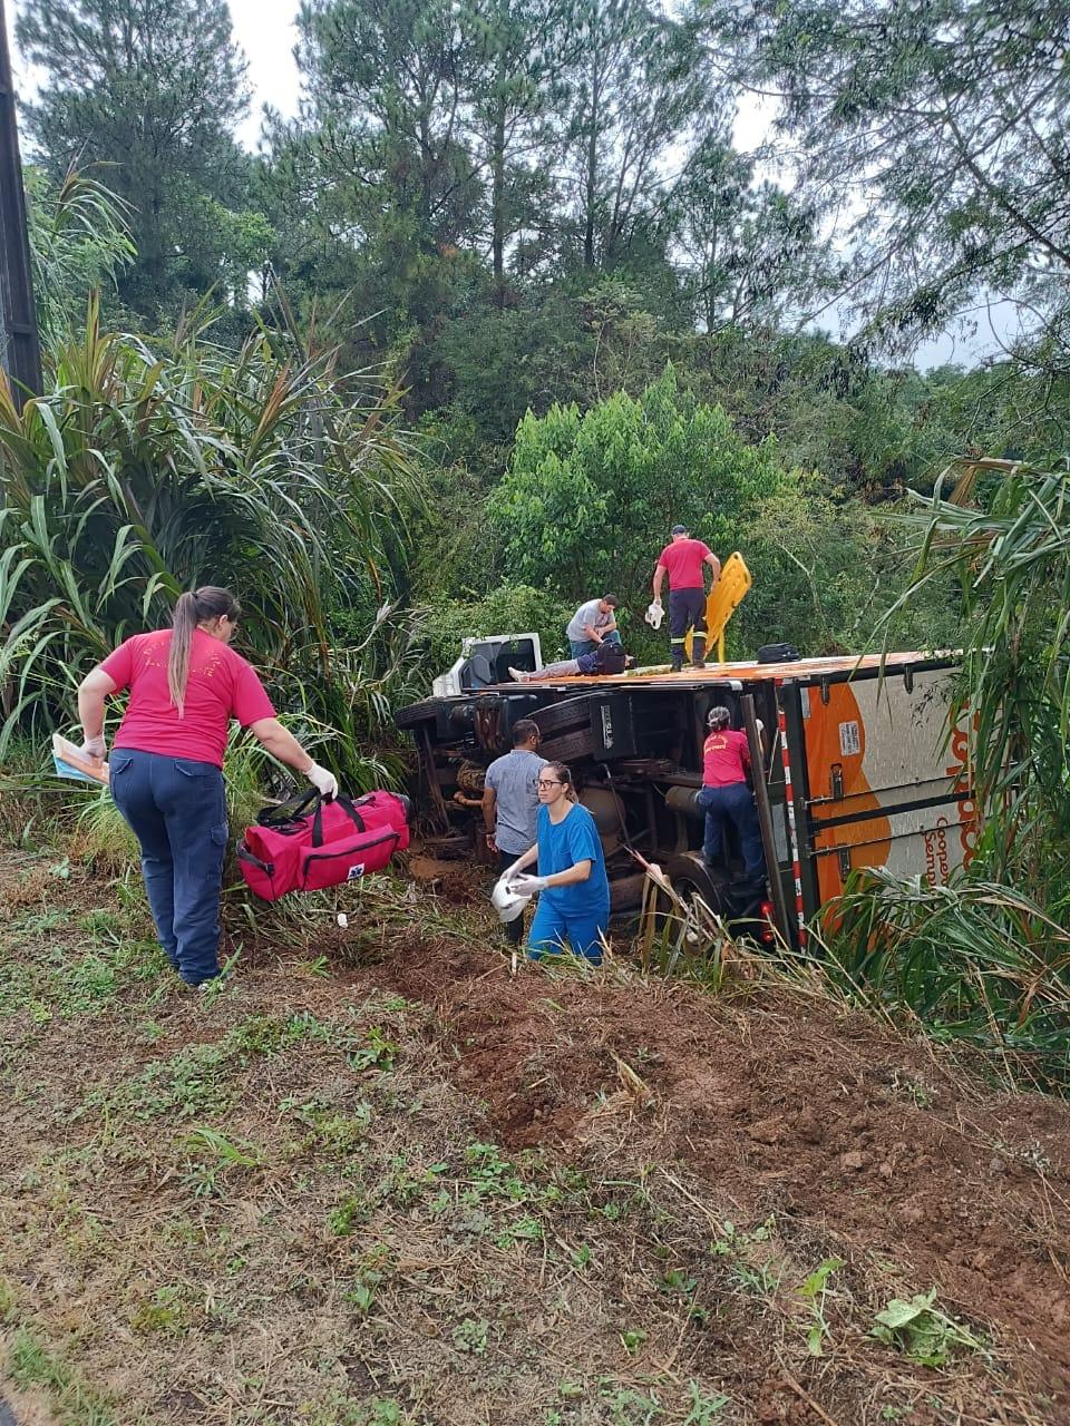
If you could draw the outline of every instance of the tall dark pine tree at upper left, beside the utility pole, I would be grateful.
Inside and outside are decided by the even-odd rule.
[[[225,0],[27,0],[17,37],[44,71],[27,128],[46,167],[106,165],[130,205],[121,299],[151,317],[233,279],[248,160],[231,128],[248,91]]]

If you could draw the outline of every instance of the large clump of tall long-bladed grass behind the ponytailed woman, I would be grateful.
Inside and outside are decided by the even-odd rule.
[[[341,720],[325,756],[360,783],[354,734],[381,690],[361,687],[367,645],[335,649],[330,612],[381,602],[397,556],[384,540],[414,485],[389,398],[260,334],[153,351],[103,332],[96,301],[46,388],[20,412],[0,381],[0,756],[67,722],[83,674],[183,589],[220,583],[280,706]]]

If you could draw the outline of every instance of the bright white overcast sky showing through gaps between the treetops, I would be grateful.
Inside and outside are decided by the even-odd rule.
[[[230,0],[230,9],[234,20],[234,39],[248,58],[248,77],[253,90],[253,108],[238,130],[238,138],[247,148],[255,150],[264,104],[270,104],[284,116],[297,113],[301,94],[301,76],[294,63],[297,43],[294,20],[298,0]],[[11,3],[7,6],[7,23],[10,30],[13,23]],[[33,83],[33,76],[27,74],[26,67],[20,63],[13,34],[10,40],[16,87],[24,88]],[[768,108],[763,110],[758,101],[748,103],[745,100],[736,120],[736,145],[742,150],[753,148],[768,133],[769,121]],[[976,337],[947,334],[934,342],[926,342],[917,351],[914,361],[923,369],[949,361],[969,364],[980,355],[999,349],[999,337],[1009,329],[1013,317],[1014,309],[1010,304],[1000,304],[994,309],[994,317],[980,311]],[[835,314],[827,314],[826,325],[835,328]],[[842,334],[833,329],[833,337],[837,335]]]

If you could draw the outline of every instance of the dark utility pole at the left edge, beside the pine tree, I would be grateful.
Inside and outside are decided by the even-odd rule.
[[[26,195],[14,116],[7,20],[0,0],[0,368],[16,406],[41,389],[41,349],[30,278]]]

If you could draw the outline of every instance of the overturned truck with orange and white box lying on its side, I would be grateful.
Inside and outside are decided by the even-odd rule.
[[[972,854],[966,739],[949,734],[953,660],[893,653],[505,682],[509,667],[538,662],[531,636],[472,645],[437,696],[397,716],[415,739],[428,814],[472,854],[484,770],[526,717],[541,729],[542,756],[569,764],[598,823],[613,914],[638,907],[645,858],[682,897],[700,896],[728,920],[768,918],[802,945],[852,870],[887,867],[936,884]],[[700,853],[696,793],[715,704],[750,743],[769,870],[760,891],[742,881],[730,834],[723,866],[708,867]]]

